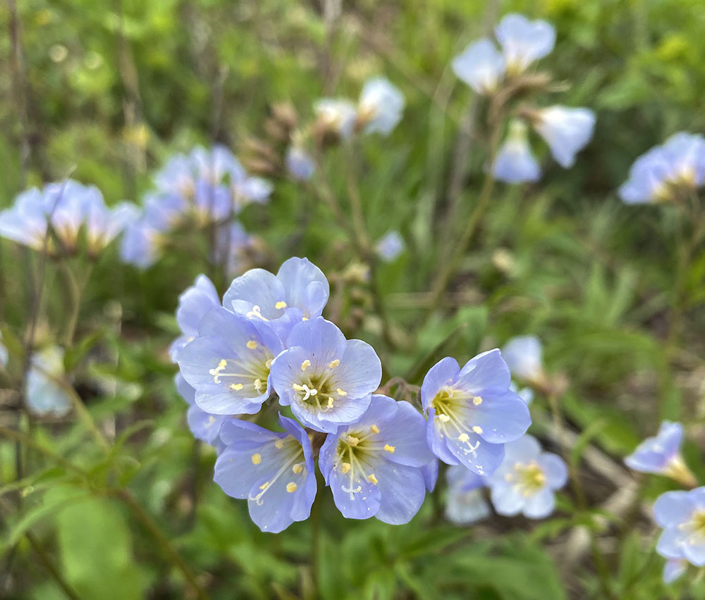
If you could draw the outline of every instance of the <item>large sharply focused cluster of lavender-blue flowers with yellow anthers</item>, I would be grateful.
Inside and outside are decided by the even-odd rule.
[[[345,517],[407,523],[434,488],[438,458],[491,475],[530,423],[498,350],[432,368],[421,390],[428,419],[379,393],[379,358],[323,318],[328,298],[305,258],[276,275],[247,271],[222,303],[203,275],[180,296],[171,356],[189,426],[216,446],[216,482],[247,499],[263,531],[308,517],[316,463]],[[276,408],[281,432],[264,427]]]

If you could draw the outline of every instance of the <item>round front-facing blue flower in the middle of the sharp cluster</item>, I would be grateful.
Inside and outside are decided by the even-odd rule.
[[[369,406],[382,377],[374,349],[324,318],[291,329],[287,350],[271,365],[271,385],[279,404],[312,429],[333,433],[355,423]],[[428,461],[427,461],[428,462]]]

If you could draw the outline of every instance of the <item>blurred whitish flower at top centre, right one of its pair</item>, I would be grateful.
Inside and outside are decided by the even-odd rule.
[[[398,87],[384,77],[373,77],[362,87],[357,123],[364,127],[364,133],[389,135],[401,120],[404,105],[404,96]]]

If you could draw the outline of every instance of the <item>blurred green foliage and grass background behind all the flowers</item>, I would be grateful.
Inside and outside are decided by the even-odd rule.
[[[472,92],[450,60],[511,11],[556,27],[542,67],[560,83],[561,104],[596,111],[595,136],[574,168],[544,161],[541,182],[494,189],[443,306],[419,321],[448,236],[447,208],[457,202],[470,212],[486,159],[482,137],[474,139],[453,195]],[[66,597],[37,548],[82,599],[196,597],[164,547],[154,549],[140,511],[125,508],[130,501],[156,519],[214,599],[703,597],[702,584],[661,583],[656,529],[642,508],[669,484],[635,477],[622,459],[661,419],[680,419],[692,440],[685,455],[705,477],[696,443],[705,434],[705,256],[685,275],[685,325],[671,344],[677,220],[658,207],[624,206],[615,193],[650,146],[705,129],[701,1],[7,0],[0,31],[0,208],[68,175],[97,185],[107,204],[140,204],[154,171],[196,144],[219,142],[247,164],[274,104],[307,119],[322,96],[356,98],[367,77],[391,80],[406,97],[403,120],[359,149],[369,235],[398,230],[406,246],[379,265],[378,289],[351,275],[355,252],[328,208],[276,173],[269,204],[241,215],[257,238],[248,264],[276,270],[289,256],[310,258],[338,282],[343,330],[378,349],[387,377],[412,385],[441,356],[462,364],[513,335],[538,335],[546,369],[565,381],[568,458],[580,473],[578,488],[539,523],[491,517],[458,527],[443,517],[442,489],[411,525],[357,523],[326,497],[312,561],[312,523],[259,532],[245,503],[213,484],[215,454],[185,426],[168,358],[173,312],[178,294],[212,265],[184,244],[137,270],[114,244],[94,266],[79,342],[65,360],[80,363],[75,387],[111,450],[101,451],[80,415],[39,420],[30,432],[132,500],[100,485],[77,496],[63,485],[66,470],[31,449],[36,477],[15,485],[16,444],[0,439],[0,597]],[[335,194],[345,194],[347,164],[338,149],[326,156]],[[37,268],[35,254],[0,240],[8,346],[23,338]],[[223,292],[228,277],[209,274]],[[51,265],[43,276],[40,340],[67,311]],[[395,343],[385,339],[378,302]],[[3,387],[7,399],[12,373]],[[534,401],[532,431],[556,449],[545,396]],[[14,427],[9,404],[0,404],[0,424]]]

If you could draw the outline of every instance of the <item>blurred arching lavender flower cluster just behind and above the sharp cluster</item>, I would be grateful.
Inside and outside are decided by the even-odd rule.
[[[216,225],[218,256],[213,258],[236,261],[250,238],[233,219],[247,204],[264,203],[272,190],[266,180],[247,175],[223,146],[197,147],[188,155],[174,156],[154,184],[156,190],[145,197],[142,215],[128,227],[121,247],[123,261],[140,268],[157,261],[171,232],[186,225]]]

